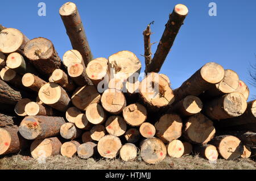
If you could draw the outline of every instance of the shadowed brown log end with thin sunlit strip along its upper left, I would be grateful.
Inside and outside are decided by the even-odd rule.
[[[74,106],[82,111],[86,111],[89,104],[99,103],[101,95],[94,86],[78,87],[71,97]]]

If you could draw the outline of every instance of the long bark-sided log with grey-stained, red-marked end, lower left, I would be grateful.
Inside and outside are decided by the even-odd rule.
[[[27,140],[38,140],[59,135],[63,124],[63,117],[27,116],[19,125],[19,133]]]

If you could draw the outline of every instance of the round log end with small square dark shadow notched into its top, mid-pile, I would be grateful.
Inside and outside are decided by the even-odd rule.
[[[142,104],[130,104],[123,109],[123,118],[127,124],[138,127],[146,121],[147,110]]]

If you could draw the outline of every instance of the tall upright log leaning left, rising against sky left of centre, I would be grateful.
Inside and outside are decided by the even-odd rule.
[[[85,35],[84,26],[79,15],[77,7],[72,2],[67,2],[60,7],[61,19],[67,30],[67,35],[71,41],[73,49],[82,54],[85,66],[93,59],[92,52]]]

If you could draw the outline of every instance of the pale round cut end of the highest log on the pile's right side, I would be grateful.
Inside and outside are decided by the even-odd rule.
[[[201,68],[200,73],[204,81],[219,83],[224,78],[225,71],[221,65],[209,62]]]

